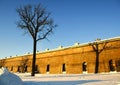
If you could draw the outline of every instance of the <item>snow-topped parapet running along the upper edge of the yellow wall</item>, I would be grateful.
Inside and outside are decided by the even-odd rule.
[[[112,42],[112,41],[119,41],[120,40],[120,36],[117,37],[113,37],[113,38],[108,38],[108,39],[103,39],[103,40],[99,40],[98,43],[104,43],[104,42]],[[60,50],[65,50],[65,49],[70,49],[70,48],[78,48],[78,47],[84,47],[84,46],[88,46],[90,45],[90,43],[94,43],[93,42],[87,42],[87,43],[74,43],[74,45],[71,46],[67,46],[67,47],[63,47],[62,45],[60,45],[58,48],[55,49],[46,49],[45,51],[41,51],[41,52],[37,52],[37,54],[40,53],[48,53],[48,52],[54,52],[54,51],[60,51]],[[18,58],[18,57],[22,57],[22,56],[31,56],[32,53],[28,53],[28,54],[23,54],[23,55],[17,55],[17,56],[11,56],[11,57],[7,57],[8,58]],[[6,58],[4,58],[6,59]]]

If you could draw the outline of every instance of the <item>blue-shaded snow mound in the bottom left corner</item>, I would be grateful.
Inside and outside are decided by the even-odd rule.
[[[23,85],[22,80],[6,68],[0,69],[0,85]]]

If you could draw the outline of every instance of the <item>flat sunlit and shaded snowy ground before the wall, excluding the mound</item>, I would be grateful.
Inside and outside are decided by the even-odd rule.
[[[17,75],[24,85],[120,85],[120,73]]]

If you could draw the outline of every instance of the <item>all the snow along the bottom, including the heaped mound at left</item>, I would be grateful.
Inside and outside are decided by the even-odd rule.
[[[120,85],[120,73],[36,74],[10,73],[0,69],[0,85]]]

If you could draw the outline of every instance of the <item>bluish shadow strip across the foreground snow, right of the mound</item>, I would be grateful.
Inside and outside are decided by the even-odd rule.
[[[24,81],[24,85],[81,85],[101,80],[77,80],[77,81]]]

